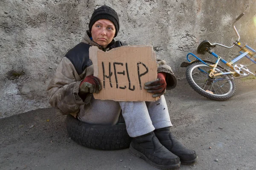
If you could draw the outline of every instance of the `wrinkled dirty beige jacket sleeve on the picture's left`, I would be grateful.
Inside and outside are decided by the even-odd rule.
[[[78,113],[79,106],[84,104],[79,96],[82,80],[78,77],[73,64],[63,57],[47,88],[49,104],[62,114]]]

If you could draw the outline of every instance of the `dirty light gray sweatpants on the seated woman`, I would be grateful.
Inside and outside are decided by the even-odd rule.
[[[163,95],[156,102],[115,102],[92,99],[90,107],[87,106],[84,113],[79,113],[78,119],[96,125],[115,125],[121,109],[127,132],[131,137],[172,126]]]

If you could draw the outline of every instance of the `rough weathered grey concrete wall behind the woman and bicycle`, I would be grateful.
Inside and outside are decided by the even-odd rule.
[[[102,5],[119,14],[116,40],[153,45],[179,78],[185,71],[180,63],[201,41],[232,45],[231,24],[241,12],[246,14],[236,24],[241,42],[256,48],[255,0],[0,0],[0,118],[49,107],[49,80]],[[231,59],[237,50],[215,52]]]

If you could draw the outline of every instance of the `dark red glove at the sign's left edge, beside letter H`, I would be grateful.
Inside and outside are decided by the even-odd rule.
[[[82,93],[99,93],[101,90],[100,80],[93,75],[85,77],[79,87]]]

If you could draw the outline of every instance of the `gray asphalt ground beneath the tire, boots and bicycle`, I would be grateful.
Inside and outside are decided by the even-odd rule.
[[[194,166],[180,170],[255,170],[255,82],[239,80],[236,95],[223,102],[197,94],[186,80],[167,92],[172,131],[198,153]],[[0,119],[0,169],[156,170],[128,149],[92,150],[73,142],[65,116],[53,109]]]

